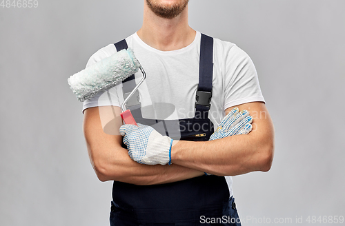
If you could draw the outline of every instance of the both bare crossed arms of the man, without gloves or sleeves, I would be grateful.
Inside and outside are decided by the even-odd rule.
[[[122,136],[103,132],[99,116],[99,111],[112,112],[115,118],[112,128],[119,131],[122,125],[119,107],[88,108],[84,114],[83,132],[90,161],[100,181],[136,185],[182,181],[201,176],[204,172],[235,176],[268,171],[273,159],[274,132],[266,106],[253,102],[234,107],[246,109],[253,116],[253,131],[250,134],[205,142],[174,141],[172,165],[142,165],[132,161],[128,151],[121,147]],[[230,109],[226,113],[228,111]]]

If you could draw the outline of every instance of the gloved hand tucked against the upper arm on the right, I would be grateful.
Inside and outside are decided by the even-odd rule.
[[[249,116],[249,112],[247,110],[239,112],[239,109],[235,107],[219,123],[217,130],[210,136],[209,141],[227,136],[249,134],[253,129],[251,123],[253,123],[253,118]]]

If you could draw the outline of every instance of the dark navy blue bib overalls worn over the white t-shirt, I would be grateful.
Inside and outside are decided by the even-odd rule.
[[[115,46],[117,51],[128,48],[125,40],[115,43]],[[208,141],[213,134],[213,123],[208,119],[212,81],[213,38],[201,34],[195,116],[179,120],[177,133],[181,140]],[[124,98],[134,87],[135,77],[132,75],[123,83]],[[170,123],[168,120],[144,119],[140,107],[137,93],[127,104],[137,123],[153,127],[159,122]],[[190,130],[188,125],[195,123],[207,126],[193,127]],[[158,132],[175,136],[167,131]],[[110,225],[241,225],[235,200],[229,196],[224,176],[204,175],[162,185],[132,185],[114,181]]]

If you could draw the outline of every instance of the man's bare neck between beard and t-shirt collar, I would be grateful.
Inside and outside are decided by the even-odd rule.
[[[144,6],[143,26],[137,34],[152,48],[170,51],[179,50],[192,43],[196,32],[188,25],[188,7],[177,17],[165,19]]]

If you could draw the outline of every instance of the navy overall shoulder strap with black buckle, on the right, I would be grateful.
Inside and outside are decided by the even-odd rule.
[[[195,96],[197,112],[210,110],[213,81],[213,38],[201,34],[200,60],[199,60],[199,85]],[[204,115],[204,114],[203,114]]]

